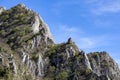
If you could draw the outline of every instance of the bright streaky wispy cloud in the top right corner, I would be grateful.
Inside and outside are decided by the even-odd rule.
[[[97,15],[101,15],[105,13],[119,13],[120,12],[120,0],[110,0],[110,1],[93,0],[91,1],[91,4],[95,5],[94,8],[92,8],[91,12]]]

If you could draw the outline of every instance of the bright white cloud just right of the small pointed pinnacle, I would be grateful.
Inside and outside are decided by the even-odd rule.
[[[78,46],[81,49],[92,50],[94,48],[99,48],[101,46],[108,46],[109,42],[107,41],[107,36],[88,36],[88,37],[79,37],[76,41]]]

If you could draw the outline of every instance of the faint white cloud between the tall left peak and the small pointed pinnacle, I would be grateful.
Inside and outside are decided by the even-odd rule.
[[[80,27],[68,26],[68,25],[58,25],[57,30],[55,30],[55,39],[58,43],[66,41],[69,37],[76,38],[78,35],[84,34],[84,30]],[[78,38],[76,38],[77,40]]]

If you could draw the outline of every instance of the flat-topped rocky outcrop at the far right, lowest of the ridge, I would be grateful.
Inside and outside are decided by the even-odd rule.
[[[94,73],[98,76],[106,75],[108,80],[119,80],[120,70],[118,65],[106,52],[94,52],[88,54]],[[117,78],[116,78],[117,77]]]

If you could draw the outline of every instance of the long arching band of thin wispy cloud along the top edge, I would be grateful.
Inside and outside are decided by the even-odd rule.
[[[84,8],[86,10],[96,15],[120,12],[120,0],[58,1],[57,3],[53,5],[52,11],[54,11],[54,13],[56,14],[60,14],[63,9],[65,9],[68,6],[73,6],[73,5],[77,5],[79,7],[81,5],[84,5]]]

